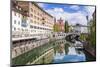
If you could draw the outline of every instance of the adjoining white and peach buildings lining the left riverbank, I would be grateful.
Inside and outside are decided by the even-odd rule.
[[[12,1],[12,39],[43,39],[53,32],[54,18],[36,3]]]

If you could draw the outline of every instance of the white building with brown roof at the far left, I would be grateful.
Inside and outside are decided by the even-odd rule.
[[[25,39],[29,36],[29,16],[16,1],[12,3],[12,38],[13,40]],[[27,10],[28,11],[28,10]]]

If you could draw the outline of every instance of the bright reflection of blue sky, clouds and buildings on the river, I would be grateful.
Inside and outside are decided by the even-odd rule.
[[[61,43],[56,43],[55,54],[52,63],[62,63],[62,62],[79,62],[86,61],[85,54],[82,50],[77,50],[73,43],[66,42],[64,40],[58,41]]]

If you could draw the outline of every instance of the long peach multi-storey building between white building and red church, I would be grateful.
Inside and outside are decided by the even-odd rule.
[[[29,6],[31,34],[48,36],[53,31],[53,16],[40,8],[37,3],[30,2]]]

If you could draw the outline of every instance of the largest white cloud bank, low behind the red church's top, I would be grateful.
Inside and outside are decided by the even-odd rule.
[[[60,8],[59,8],[60,9]],[[87,25],[87,20],[86,20],[86,16],[84,14],[82,14],[82,12],[78,11],[76,13],[68,13],[68,12],[64,12],[63,11],[55,11],[54,9],[48,9],[46,10],[48,13],[50,13],[52,16],[56,17],[56,19],[59,19],[60,17],[63,20],[67,20],[69,22],[69,24],[76,24],[76,23],[80,23],[83,25]]]

